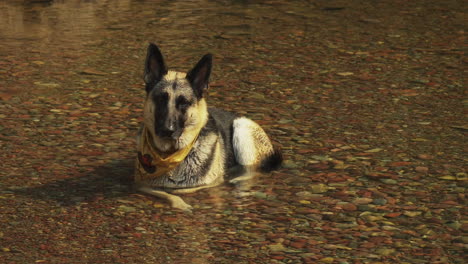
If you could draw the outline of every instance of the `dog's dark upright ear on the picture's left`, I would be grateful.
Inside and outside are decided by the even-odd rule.
[[[150,92],[153,86],[167,73],[167,67],[158,46],[150,43],[146,53],[145,76],[146,92]]]

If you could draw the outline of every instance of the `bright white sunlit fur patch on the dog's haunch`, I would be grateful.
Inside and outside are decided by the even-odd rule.
[[[254,165],[258,157],[253,133],[258,125],[245,117],[235,119],[232,125],[234,128],[232,145],[237,162],[244,166]]]

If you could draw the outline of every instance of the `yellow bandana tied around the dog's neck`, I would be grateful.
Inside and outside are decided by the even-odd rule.
[[[138,146],[138,157],[136,159],[135,181],[142,182],[155,179],[174,169],[187,157],[197,138],[198,136],[185,148],[167,157],[162,157],[154,147],[150,131],[146,126],[143,126],[140,145]]]

